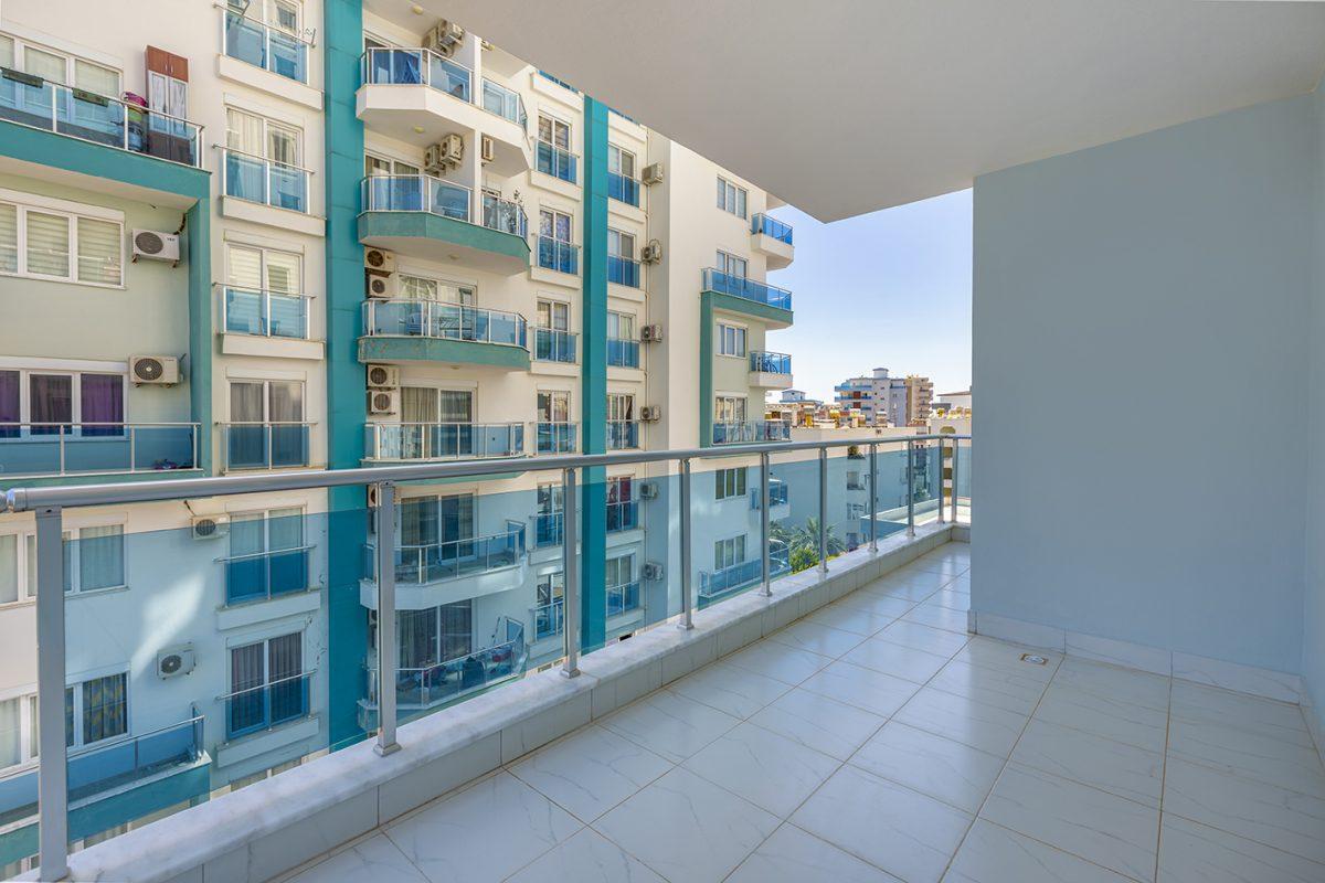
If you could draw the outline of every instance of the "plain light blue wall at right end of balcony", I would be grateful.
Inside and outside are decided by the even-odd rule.
[[[977,179],[977,612],[1300,671],[1313,101]]]

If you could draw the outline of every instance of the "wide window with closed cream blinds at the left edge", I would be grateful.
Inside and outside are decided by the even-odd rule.
[[[119,220],[0,201],[0,273],[4,274],[121,286],[123,241],[125,225]]]

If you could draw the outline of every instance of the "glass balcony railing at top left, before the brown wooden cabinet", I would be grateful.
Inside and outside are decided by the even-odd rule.
[[[203,127],[197,123],[8,68],[0,68],[0,119],[203,167]]]

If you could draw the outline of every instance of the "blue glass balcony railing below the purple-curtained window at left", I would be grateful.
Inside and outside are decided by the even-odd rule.
[[[158,473],[197,469],[199,424],[0,422],[0,475]]]

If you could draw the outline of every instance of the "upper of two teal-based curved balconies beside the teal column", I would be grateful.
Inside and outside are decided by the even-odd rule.
[[[473,222],[473,192],[428,175],[372,175],[360,184],[359,241],[427,261],[515,275],[529,269],[525,209],[485,193]]]

